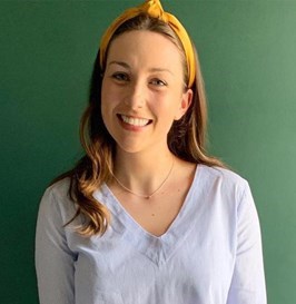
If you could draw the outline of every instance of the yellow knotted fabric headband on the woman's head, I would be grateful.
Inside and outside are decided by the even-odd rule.
[[[159,0],[146,0],[141,6],[136,8],[130,8],[120,14],[110,27],[106,30],[102,36],[100,43],[100,66],[103,67],[106,60],[106,51],[108,45],[115,33],[115,31],[127,20],[132,19],[140,13],[147,13],[152,18],[158,18],[169,24],[169,27],[175,31],[182,43],[185,51],[187,67],[188,67],[188,88],[190,88],[195,81],[196,77],[196,61],[195,61],[195,51],[191,43],[191,40],[182,27],[180,21],[172,14],[165,12]]]

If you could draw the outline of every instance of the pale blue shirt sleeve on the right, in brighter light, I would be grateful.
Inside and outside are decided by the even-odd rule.
[[[262,236],[248,185],[237,210],[236,262],[227,304],[266,304]]]

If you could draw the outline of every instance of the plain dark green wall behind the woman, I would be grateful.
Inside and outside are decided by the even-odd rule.
[[[103,29],[139,1],[1,1],[0,303],[38,303],[40,196],[81,155]],[[250,183],[269,304],[296,303],[296,2],[164,1],[199,51],[210,150]],[[55,303],[58,304],[58,303]]]

